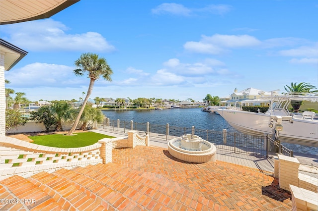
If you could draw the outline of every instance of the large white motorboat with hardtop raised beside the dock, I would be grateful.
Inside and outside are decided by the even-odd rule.
[[[302,115],[292,115],[287,109],[291,101],[318,103],[318,96],[297,93],[275,96],[271,98],[271,106],[265,113],[228,108],[218,109],[217,112],[242,133],[264,135],[274,132],[282,142],[318,147],[318,120],[315,112],[304,111]]]

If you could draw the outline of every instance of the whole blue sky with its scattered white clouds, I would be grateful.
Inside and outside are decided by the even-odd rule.
[[[105,57],[112,81],[91,99],[202,101],[237,88],[318,87],[317,0],[80,0],[51,18],[0,26],[28,54],[6,85],[31,101],[78,100],[81,53]]]

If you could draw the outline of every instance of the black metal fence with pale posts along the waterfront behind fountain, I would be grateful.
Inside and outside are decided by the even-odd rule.
[[[277,153],[293,157],[293,151],[265,135],[255,136],[227,132],[226,129],[223,129],[223,131],[203,130],[194,128],[194,126],[192,126],[192,128],[186,128],[169,126],[169,124],[158,125],[150,124],[149,122],[133,122],[132,120],[110,120],[109,118],[105,118],[103,125],[99,125],[99,127],[103,127],[104,129],[107,127],[113,131],[124,133],[127,133],[130,130],[136,130],[139,135],[149,134],[150,137],[165,140],[166,142],[184,134],[192,134],[193,132],[202,139],[213,143],[217,149],[223,151],[269,158],[272,162],[274,162],[274,156],[276,156]]]

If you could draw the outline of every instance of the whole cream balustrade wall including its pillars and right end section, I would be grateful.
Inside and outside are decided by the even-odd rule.
[[[108,163],[115,148],[148,146],[149,135],[140,137],[129,131],[128,138],[104,138],[81,148],[55,148],[36,145],[15,138],[0,137],[0,180],[13,175],[29,177],[41,171],[53,172],[59,168]]]

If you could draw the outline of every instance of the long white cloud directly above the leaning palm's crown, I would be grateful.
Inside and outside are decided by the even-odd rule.
[[[10,24],[10,42],[27,51],[113,52],[115,47],[97,32],[68,34],[68,27],[53,19]]]

